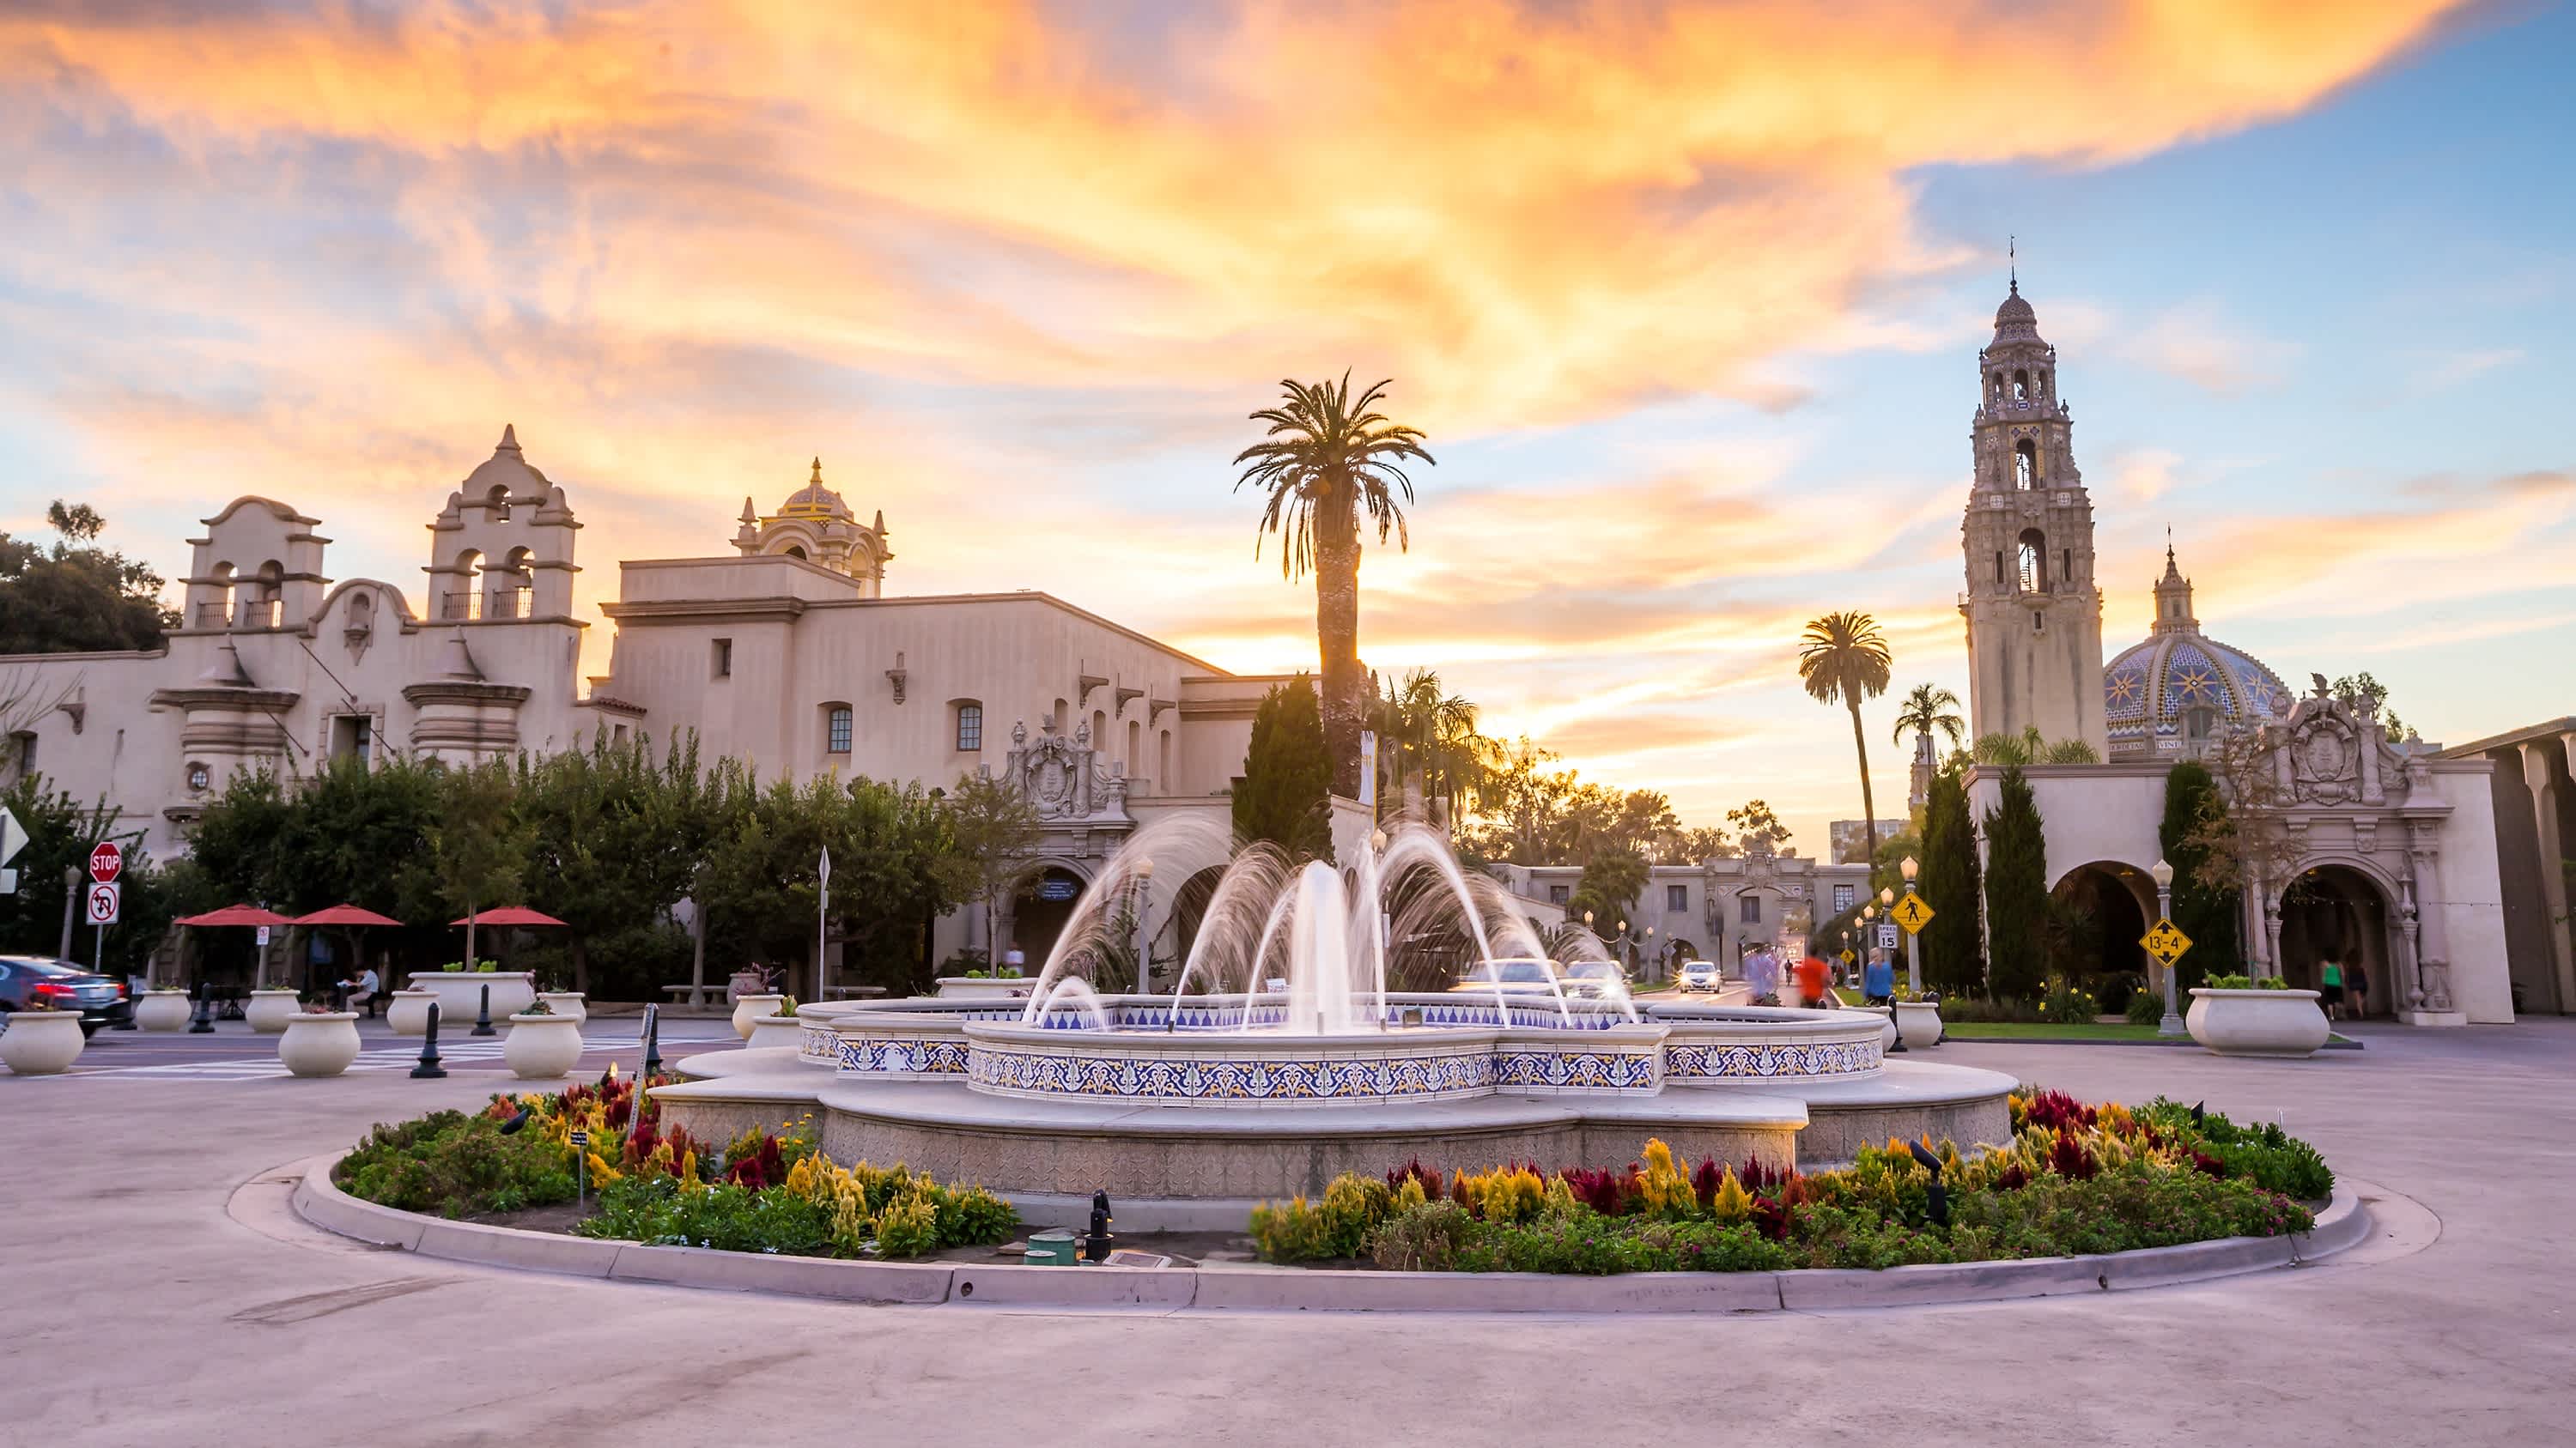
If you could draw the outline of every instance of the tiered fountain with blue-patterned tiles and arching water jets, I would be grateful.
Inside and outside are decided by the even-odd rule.
[[[706,1136],[788,1105],[842,1159],[1121,1201],[1321,1190],[1409,1157],[1623,1165],[1646,1136],[1816,1165],[1888,1136],[2009,1134],[2009,1077],[1886,1062],[1868,1013],[1638,1007],[1623,989],[1569,997],[1553,971],[1543,995],[1499,971],[1394,989],[1448,958],[1427,943],[1471,961],[1548,951],[1440,832],[1404,824],[1358,855],[1345,873],[1231,850],[1213,822],[1149,824],[1074,902],[1025,1002],[804,1005],[793,1056],[696,1056],[683,1074],[698,1080],[659,1098]],[[1185,889],[1203,894],[1198,933],[1172,992],[1149,995],[1149,928],[1170,928]],[[1597,958],[1587,940],[1569,951]]]

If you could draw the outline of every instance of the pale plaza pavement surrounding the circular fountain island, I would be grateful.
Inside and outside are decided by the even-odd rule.
[[[415,1082],[417,1046],[371,1036],[301,1082],[240,1031],[0,1074],[0,1443],[2545,1443],[2576,1384],[2576,1020],[2360,1028],[2313,1062],[1942,1046],[2277,1118],[2403,1196],[2285,1273],[1749,1317],[891,1309],[466,1268],[322,1234],[255,1177],[477,1105],[497,1062],[451,1046]],[[631,1023],[587,1036],[585,1072],[634,1067]]]

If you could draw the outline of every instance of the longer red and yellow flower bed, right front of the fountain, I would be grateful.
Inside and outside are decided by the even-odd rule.
[[[2300,1201],[2334,1190],[2316,1149],[2280,1126],[2241,1129],[2161,1098],[2133,1113],[2014,1095],[2012,1126],[2012,1144],[1978,1154],[1888,1141],[1816,1175],[1685,1170],[1662,1141],[1625,1172],[1409,1162],[1386,1180],[1337,1177],[1314,1203],[1265,1203],[1252,1234],[1270,1262],[1396,1270],[1899,1268],[2280,1237],[2308,1232]]]

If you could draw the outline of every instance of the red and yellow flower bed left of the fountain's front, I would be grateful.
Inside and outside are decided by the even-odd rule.
[[[652,1085],[662,1085],[654,1080]],[[572,1134],[585,1147],[572,1147]],[[402,1211],[513,1214],[598,1193],[580,1237],[649,1247],[719,1247],[801,1257],[920,1257],[1007,1242],[1020,1216],[979,1185],[940,1185],[904,1165],[835,1165],[799,1123],[729,1144],[662,1126],[634,1080],[562,1092],[495,1095],[466,1116],[440,1110],[376,1126],[332,1170],[340,1190]]]

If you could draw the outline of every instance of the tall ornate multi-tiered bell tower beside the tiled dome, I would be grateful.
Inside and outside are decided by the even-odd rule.
[[[2092,497],[2076,472],[2074,412],[2058,399],[2058,350],[2020,276],[1976,353],[1971,441],[1976,487],[1968,554],[1968,714],[1976,734],[2038,727],[2110,757],[2102,724],[2102,590],[2094,587]]]

